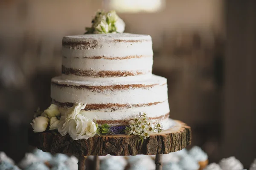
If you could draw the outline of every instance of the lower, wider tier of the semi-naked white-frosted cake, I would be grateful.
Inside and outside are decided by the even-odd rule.
[[[156,75],[146,77],[136,81],[72,81],[55,77],[51,97],[62,113],[75,102],[87,103],[81,113],[96,118],[99,124],[128,124],[139,112],[145,112],[152,120],[167,120],[166,79]]]

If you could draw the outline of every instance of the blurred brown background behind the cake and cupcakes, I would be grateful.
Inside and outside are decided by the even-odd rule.
[[[192,127],[210,162],[256,158],[256,1],[1,0],[0,150],[29,150],[34,110],[49,106],[61,74],[61,39],[83,34],[98,9],[116,10],[125,32],[153,40],[153,73],[168,78],[170,117]]]

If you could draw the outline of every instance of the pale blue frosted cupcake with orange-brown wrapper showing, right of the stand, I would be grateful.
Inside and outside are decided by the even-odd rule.
[[[189,155],[198,161],[198,164],[200,165],[199,170],[203,170],[209,162],[207,154],[201,149],[201,147],[192,147],[191,150],[189,150]]]

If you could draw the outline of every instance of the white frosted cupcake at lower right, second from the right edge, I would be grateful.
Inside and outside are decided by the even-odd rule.
[[[224,158],[219,162],[222,170],[243,170],[244,166],[234,156]]]

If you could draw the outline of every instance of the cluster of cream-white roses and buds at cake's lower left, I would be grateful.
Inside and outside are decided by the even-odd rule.
[[[75,103],[60,117],[58,106],[51,104],[48,109],[41,113],[41,116],[32,121],[33,131],[58,130],[61,135],[68,133],[73,140],[93,137],[96,135],[98,124],[80,114],[81,109],[84,109],[85,106],[86,104]]]

